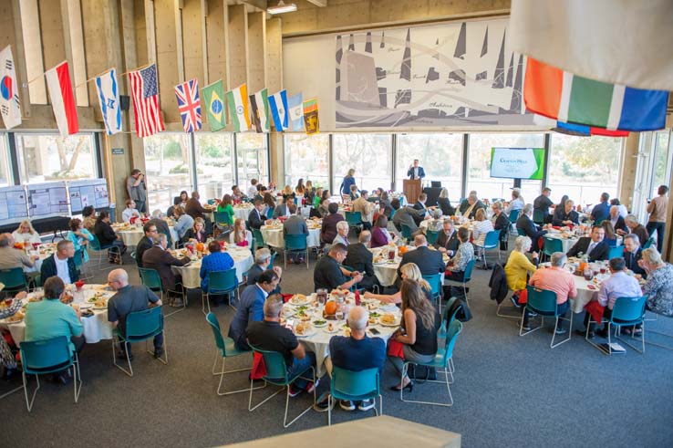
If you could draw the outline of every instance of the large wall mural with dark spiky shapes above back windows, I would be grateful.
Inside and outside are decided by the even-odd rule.
[[[507,19],[336,36],[336,127],[523,126]]]

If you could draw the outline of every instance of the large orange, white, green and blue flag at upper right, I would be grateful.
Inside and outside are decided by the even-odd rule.
[[[523,85],[526,109],[563,122],[607,130],[660,130],[668,92],[608,84],[548,66],[533,57]]]

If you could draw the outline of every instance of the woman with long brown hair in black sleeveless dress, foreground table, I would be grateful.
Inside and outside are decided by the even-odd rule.
[[[417,282],[402,281],[402,321],[400,328],[390,337],[402,344],[404,358],[388,355],[390,363],[401,378],[401,387],[413,390],[413,382],[409,376],[402,377],[405,361],[428,363],[437,353],[437,330],[440,328],[440,314],[432,303],[426,299]],[[391,391],[399,391],[400,384],[390,387]]]

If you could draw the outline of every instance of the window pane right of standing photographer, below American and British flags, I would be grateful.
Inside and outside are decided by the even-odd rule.
[[[173,203],[182,190],[192,192],[190,135],[161,132],[144,139],[148,210]]]

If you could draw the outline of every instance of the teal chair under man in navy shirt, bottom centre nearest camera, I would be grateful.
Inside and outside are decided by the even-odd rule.
[[[327,406],[327,425],[332,425],[332,407],[335,400],[362,401],[378,398],[376,415],[383,415],[383,396],[381,395],[380,378],[378,369],[367,369],[352,371],[341,369],[336,366],[332,368],[332,378],[329,383],[329,405]]]

